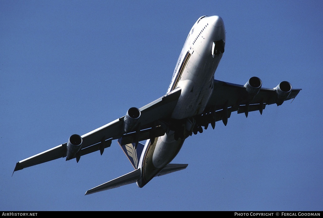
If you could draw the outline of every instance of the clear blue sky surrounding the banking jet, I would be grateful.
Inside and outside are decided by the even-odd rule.
[[[322,211],[322,1],[0,1],[1,211]],[[166,93],[202,15],[219,15],[215,78],[289,81],[295,100],[189,137],[185,170],[84,196],[133,168],[117,142],[66,162],[16,162]]]

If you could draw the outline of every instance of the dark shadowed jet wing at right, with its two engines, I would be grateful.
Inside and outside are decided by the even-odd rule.
[[[203,114],[195,117],[196,125],[193,133],[201,132],[201,127],[206,129],[208,124],[214,128],[215,122],[222,120],[224,125],[231,113],[245,113],[259,111],[262,114],[268,104],[283,104],[284,101],[294,99],[301,89],[292,89],[287,81],[281,82],[275,88],[261,88],[261,80],[252,77],[245,85],[227,83],[214,80],[213,93]]]

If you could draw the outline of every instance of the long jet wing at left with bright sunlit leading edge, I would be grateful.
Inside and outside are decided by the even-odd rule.
[[[122,138],[122,143],[128,144],[164,135],[165,131],[160,125],[161,119],[168,118],[172,114],[180,95],[181,88],[176,88],[172,92],[165,94],[150,104],[141,107],[139,109],[140,117],[137,119],[139,121],[136,121],[134,128],[130,128],[128,131],[125,131],[125,116],[120,117],[119,119],[82,136],[72,135],[67,143],[58,145],[57,147],[19,161],[16,163],[14,172],[62,157],[67,157],[66,160],[76,158],[78,162],[80,156],[95,151],[100,151],[102,155],[104,149],[109,147],[111,145],[111,141],[114,139]],[[128,115],[128,112],[126,115]],[[131,118],[130,126],[133,126]],[[68,148],[68,143],[77,146],[70,146],[70,148]],[[71,154],[68,154],[68,152]]]

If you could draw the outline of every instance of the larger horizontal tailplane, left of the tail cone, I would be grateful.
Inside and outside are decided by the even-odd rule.
[[[116,179],[113,179],[109,182],[106,182],[106,183],[103,183],[97,187],[94,187],[94,188],[88,190],[85,193],[85,195],[96,193],[96,192],[101,192],[101,191],[112,189],[112,188],[117,188],[122,185],[127,185],[130,183],[135,183],[140,178],[140,176],[141,176],[141,169],[139,168],[139,169],[136,169],[136,170],[134,170],[130,173],[127,173],[123,176],[120,176]]]

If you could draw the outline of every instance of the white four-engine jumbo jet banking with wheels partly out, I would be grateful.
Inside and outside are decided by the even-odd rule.
[[[14,172],[58,158],[78,162],[85,154],[100,151],[102,155],[112,140],[117,140],[134,170],[89,189],[85,195],[130,183],[142,188],[156,176],[186,169],[188,164],[171,161],[189,136],[202,133],[209,124],[214,129],[218,121],[226,126],[232,112],[246,117],[252,111],[262,114],[266,105],[279,106],[300,92],[287,81],[275,88],[262,88],[262,81],[255,76],[245,85],[215,80],[224,47],[223,19],[201,16],[186,38],[165,95],[141,108],[131,107],[125,116],[87,134],[73,134],[68,142],[19,161]]]

